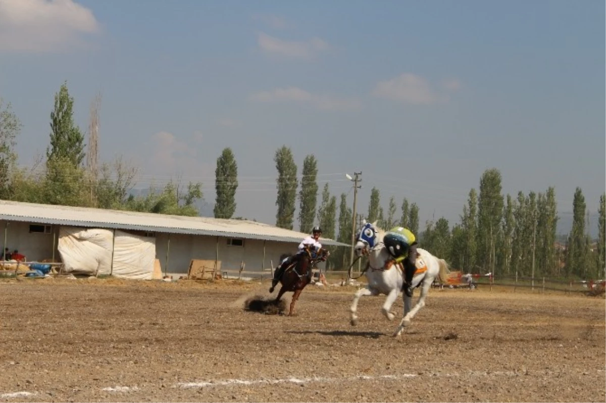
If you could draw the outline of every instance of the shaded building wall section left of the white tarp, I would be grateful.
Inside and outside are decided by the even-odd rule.
[[[50,233],[30,233],[30,224],[35,222],[0,221],[0,245],[4,250],[4,234],[6,229],[6,247],[12,252],[19,250],[28,261],[41,261],[53,257],[53,234],[58,236],[58,226],[50,225]],[[1,256],[0,256],[1,258]],[[59,260],[59,252],[55,247],[55,260]]]

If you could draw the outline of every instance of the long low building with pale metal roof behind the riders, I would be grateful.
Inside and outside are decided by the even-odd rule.
[[[59,261],[59,238],[78,228],[111,230],[114,236],[110,242],[117,239],[116,231],[147,239],[167,275],[186,274],[191,259],[220,261],[221,270],[238,270],[245,262],[245,270],[261,272],[271,264],[275,267],[282,254],[295,253],[308,235],[240,219],[0,201],[0,230],[4,230],[0,244],[10,250],[17,248],[28,261]],[[321,242],[350,246],[332,239]]]

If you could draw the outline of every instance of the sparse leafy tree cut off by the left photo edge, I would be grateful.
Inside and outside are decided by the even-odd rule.
[[[10,178],[16,167],[16,138],[21,132],[21,122],[11,105],[0,98],[0,199],[10,199]]]

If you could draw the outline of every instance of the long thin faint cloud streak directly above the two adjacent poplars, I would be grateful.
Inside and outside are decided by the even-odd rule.
[[[359,110],[362,107],[359,99],[316,95],[298,87],[275,88],[271,91],[258,92],[250,98],[258,102],[302,102],[321,110]]]

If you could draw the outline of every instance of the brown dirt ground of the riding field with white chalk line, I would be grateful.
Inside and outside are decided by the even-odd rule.
[[[266,288],[0,282],[0,401],[606,401],[604,298],[431,290],[394,339],[384,296],[351,327],[355,288],[310,286],[293,317],[242,309]]]

